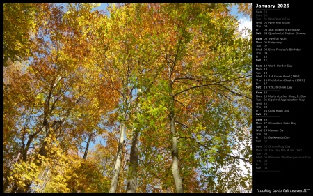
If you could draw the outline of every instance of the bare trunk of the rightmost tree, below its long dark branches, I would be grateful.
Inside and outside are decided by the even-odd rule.
[[[174,112],[174,98],[172,97],[172,81],[170,81],[170,131],[172,133],[172,176],[174,177],[176,192],[184,193],[184,185],[182,183],[182,177],[179,174],[178,167],[178,148],[177,148],[177,137],[175,136],[175,112]]]

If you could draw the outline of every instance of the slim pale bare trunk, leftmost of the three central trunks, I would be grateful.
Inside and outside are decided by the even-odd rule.
[[[109,193],[115,193],[116,188],[118,187],[118,178],[120,176],[120,166],[122,163],[122,151],[124,144],[124,133],[125,133],[125,122],[120,123],[120,142],[118,144],[118,155],[116,156],[115,167],[113,170],[113,178],[111,181],[111,187]]]

